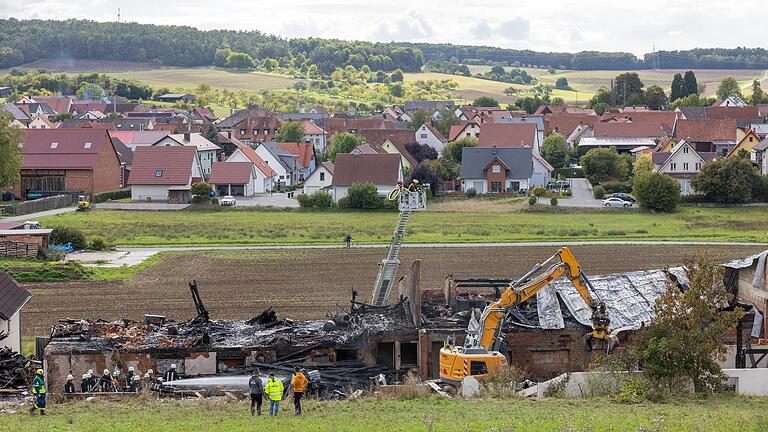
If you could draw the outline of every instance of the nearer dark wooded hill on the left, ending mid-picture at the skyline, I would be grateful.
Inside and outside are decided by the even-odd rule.
[[[323,74],[352,65],[372,70],[419,71],[421,51],[392,43],[331,39],[284,39],[259,31],[198,30],[187,26],[96,22],[69,19],[0,20],[0,68],[43,58],[149,62],[167,66],[217,64],[217,50],[241,53],[259,65],[268,62],[302,68],[315,65]],[[34,37],[31,37],[34,35]],[[226,64],[224,65],[227,66]],[[234,66],[233,66],[234,67]]]

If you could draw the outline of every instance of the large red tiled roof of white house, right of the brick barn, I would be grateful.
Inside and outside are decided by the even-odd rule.
[[[186,185],[197,149],[185,146],[137,147],[129,185]],[[159,177],[156,174],[161,174]]]

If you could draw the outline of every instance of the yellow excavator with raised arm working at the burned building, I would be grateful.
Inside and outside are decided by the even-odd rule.
[[[553,261],[546,271],[538,274]],[[459,384],[466,376],[482,378],[506,366],[507,359],[499,352],[499,348],[507,309],[533,297],[540,289],[561,276],[571,281],[581,298],[592,309],[592,331],[587,335],[590,345],[593,339],[607,340],[610,320],[605,303],[592,299],[592,284],[571,251],[563,247],[543,263],[536,264],[523,277],[510,283],[497,301],[485,307],[479,320],[473,316],[463,346],[446,343],[440,350],[440,380]]]

